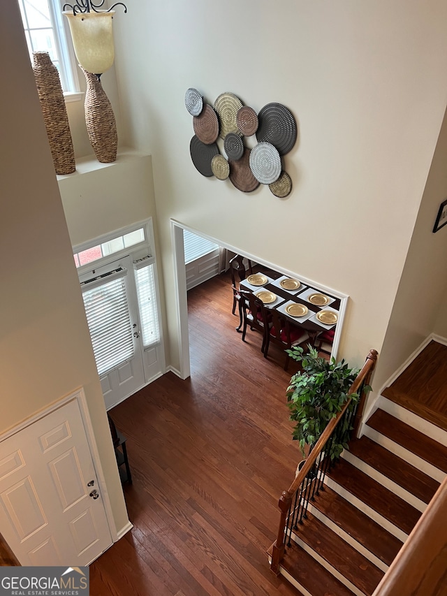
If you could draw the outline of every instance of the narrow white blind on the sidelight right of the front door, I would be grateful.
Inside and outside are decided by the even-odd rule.
[[[160,341],[159,315],[156,307],[154,263],[134,263],[140,311],[141,336],[144,347]]]

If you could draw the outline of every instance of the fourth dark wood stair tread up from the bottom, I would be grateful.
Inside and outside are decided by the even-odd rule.
[[[421,513],[415,507],[344,458],[341,458],[327,475],[406,534],[413,530],[420,518]]]

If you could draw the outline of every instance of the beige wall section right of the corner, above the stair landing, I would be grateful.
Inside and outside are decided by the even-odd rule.
[[[447,115],[439,134],[432,167],[420,204],[411,245],[379,367],[377,388],[431,333],[447,337],[447,227],[433,233],[439,205],[447,198]]]

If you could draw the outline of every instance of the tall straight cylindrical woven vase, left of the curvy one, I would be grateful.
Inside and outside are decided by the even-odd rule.
[[[57,174],[71,174],[76,169],[75,152],[59,73],[47,52],[34,52],[33,59],[34,78],[54,170]]]

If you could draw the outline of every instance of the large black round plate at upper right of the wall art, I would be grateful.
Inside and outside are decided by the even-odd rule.
[[[297,125],[286,106],[282,103],[268,103],[258,113],[258,120],[258,142],[271,143],[280,155],[285,155],[292,149],[297,137]]]

